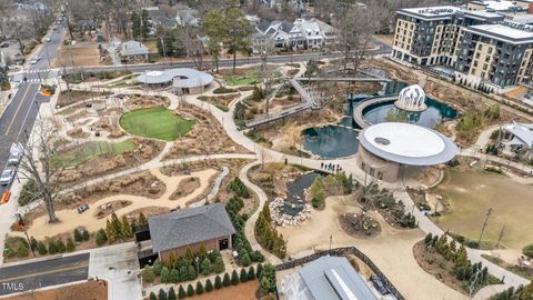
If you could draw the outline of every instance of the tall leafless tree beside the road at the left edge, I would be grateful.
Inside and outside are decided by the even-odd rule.
[[[37,120],[32,136],[27,133],[28,141],[19,166],[21,177],[36,182],[36,199],[43,200],[51,223],[59,221],[53,204],[60,190],[58,179],[62,171],[56,159],[52,134],[51,124]]]

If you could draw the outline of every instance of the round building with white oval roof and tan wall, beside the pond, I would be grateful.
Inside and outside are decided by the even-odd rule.
[[[410,123],[368,127],[361,131],[359,142],[358,166],[390,182],[398,179],[401,166],[434,166],[457,154],[457,147],[442,133]]]

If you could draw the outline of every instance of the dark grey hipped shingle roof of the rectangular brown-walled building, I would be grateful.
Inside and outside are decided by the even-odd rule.
[[[151,217],[148,224],[154,253],[235,233],[222,203]]]

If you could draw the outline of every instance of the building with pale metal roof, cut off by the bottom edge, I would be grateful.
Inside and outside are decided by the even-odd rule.
[[[344,257],[321,257],[283,279],[288,300],[374,300],[378,297]]]

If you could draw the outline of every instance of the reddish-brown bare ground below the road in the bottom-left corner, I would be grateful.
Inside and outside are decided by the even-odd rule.
[[[103,281],[88,281],[53,290],[31,291],[20,296],[7,298],[9,300],[57,300],[57,299],[77,299],[77,300],[107,300],[108,286]]]

